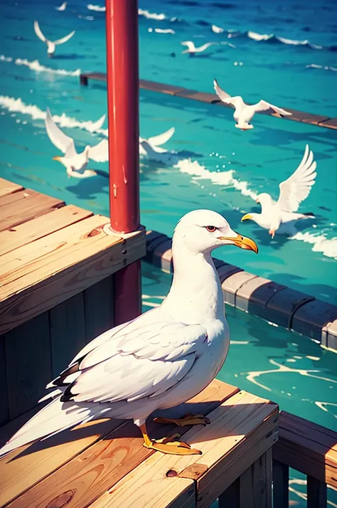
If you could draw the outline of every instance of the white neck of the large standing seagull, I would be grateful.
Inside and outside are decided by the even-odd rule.
[[[210,254],[172,245],[174,275],[164,307],[182,322],[225,319],[223,290]]]

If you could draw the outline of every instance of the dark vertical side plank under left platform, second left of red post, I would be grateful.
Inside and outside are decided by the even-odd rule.
[[[49,311],[51,371],[55,378],[85,345],[83,293],[69,298]]]

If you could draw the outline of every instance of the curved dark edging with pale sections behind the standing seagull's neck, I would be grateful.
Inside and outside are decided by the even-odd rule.
[[[172,240],[158,231],[146,232],[145,260],[173,272]],[[337,306],[292,290],[213,258],[220,275],[225,303],[279,326],[315,339],[337,351]]]

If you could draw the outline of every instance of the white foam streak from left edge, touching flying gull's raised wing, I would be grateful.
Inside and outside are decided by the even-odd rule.
[[[33,120],[44,120],[46,118],[46,111],[41,110],[34,104],[25,104],[25,102],[21,100],[21,97],[15,99],[14,97],[9,97],[7,95],[0,95],[0,106],[10,112],[18,112],[23,115],[29,115]],[[100,125],[100,120],[97,122],[92,122],[91,120],[80,122],[76,118],[68,117],[65,113],[60,116],[53,115],[53,120],[55,123],[60,125],[60,127],[77,127],[78,129],[83,129],[91,133],[99,132],[100,134],[103,134],[103,132],[105,132],[105,129],[97,129],[97,125]]]

